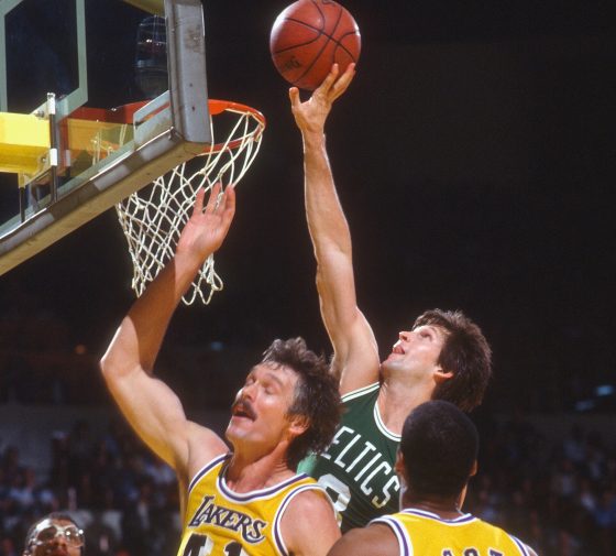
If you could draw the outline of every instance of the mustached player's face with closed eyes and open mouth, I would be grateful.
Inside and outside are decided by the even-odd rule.
[[[231,407],[227,438],[235,447],[239,443],[250,443],[262,445],[265,450],[292,439],[287,412],[297,381],[297,373],[288,367],[263,363],[254,367]]]

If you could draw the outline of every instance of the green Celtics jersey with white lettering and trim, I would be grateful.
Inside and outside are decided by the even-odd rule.
[[[298,469],[327,489],[342,517],[343,533],[399,510],[394,464],[400,436],[381,419],[378,389],[375,383],[343,395],[342,419],[329,448],[301,461]]]

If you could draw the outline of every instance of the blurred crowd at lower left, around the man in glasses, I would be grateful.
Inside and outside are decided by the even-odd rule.
[[[179,538],[172,469],[130,429],[111,422],[94,435],[85,421],[50,439],[52,467],[37,476],[7,446],[0,464],[0,555],[20,555],[37,517],[67,510],[86,532],[86,554],[173,555]]]

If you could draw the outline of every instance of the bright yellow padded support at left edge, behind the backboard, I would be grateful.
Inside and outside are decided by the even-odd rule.
[[[50,150],[50,122],[25,113],[0,112],[0,172],[32,174]]]

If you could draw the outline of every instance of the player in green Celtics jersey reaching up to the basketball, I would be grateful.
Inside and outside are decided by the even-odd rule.
[[[354,72],[351,64],[340,75],[334,65],[304,102],[297,88],[289,89],[304,142],[306,215],[321,316],[346,410],[329,449],[300,469],[327,487],[342,515],[343,532],[397,510],[395,454],[408,413],[431,399],[470,411],[481,403],[491,375],[490,347],[460,312],[420,315],[399,332],[385,361],[380,360],[374,332],[358,307],[351,233],[326,149],[326,120]]]

